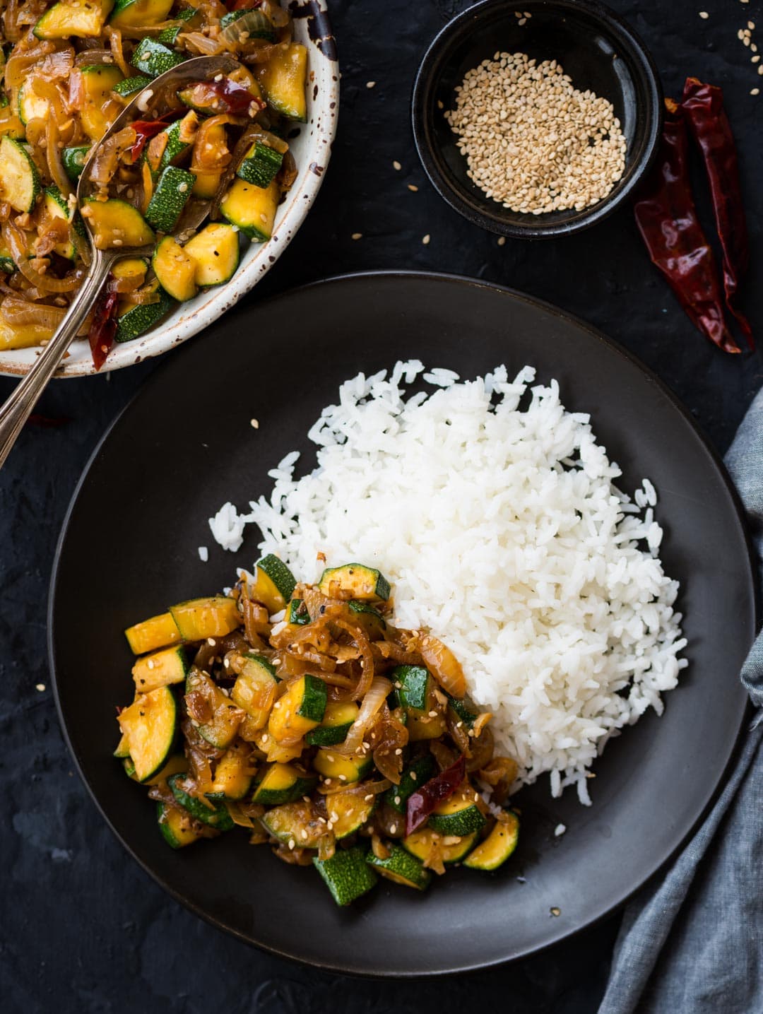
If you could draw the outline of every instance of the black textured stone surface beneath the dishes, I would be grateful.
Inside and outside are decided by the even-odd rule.
[[[430,39],[463,6],[455,0],[330,0],[342,67],[333,158],[305,225],[248,302],[355,270],[434,269],[504,283],[579,314],[633,351],[724,451],[763,378],[760,360],[756,354],[726,356],[692,330],[651,267],[628,208],[571,238],[508,240],[501,247],[495,236],[451,211],[425,178],[409,128],[411,81]],[[612,6],[651,48],[666,93],[680,91],[687,74],[723,87],[753,237],[748,307],[763,341],[763,95],[750,95],[756,85],[763,90],[763,77],[737,38],[751,18],[760,23],[754,34],[763,45],[763,6],[760,0],[613,0]],[[700,19],[699,10],[710,17]],[[367,81],[376,86],[368,89]],[[393,169],[393,159],[401,171]],[[354,241],[354,232],[363,238]],[[422,243],[426,233],[429,245]],[[103,429],[155,366],[53,383],[40,411],[71,422],[60,429],[27,428],[0,474],[4,1014],[595,1011],[618,916],[499,970],[423,983],[347,980],[250,949],[185,912],[102,822],[73,774],[59,731],[46,657],[46,598],[56,539],[80,472]],[[13,383],[0,378],[0,396]],[[129,524],[130,517],[104,523]],[[97,620],[82,618],[83,636]]]

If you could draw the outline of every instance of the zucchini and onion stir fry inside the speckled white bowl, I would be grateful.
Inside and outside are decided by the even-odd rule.
[[[227,282],[239,235],[270,239],[296,177],[285,138],[291,121],[306,120],[307,50],[278,3],[229,2],[232,10],[220,0],[3,4],[0,349],[53,336],[85,272],[80,216],[101,248],[156,244],[150,263],[118,263],[83,329],[96,368],[112,341],[137,338],[177,301]],[[184,60],[221,54],[238,68],[141,96],[145,119],[102,146],[93,197],[78,208],[92,146],[136,93]],[[212,224],[178,242],[172,234],[195,199],[211,202]]]

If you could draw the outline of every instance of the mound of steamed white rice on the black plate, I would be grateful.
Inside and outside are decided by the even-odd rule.
[[[406,400],[419,374],[435,389]],[[257,524],[262,553],[302,580],[319,576],[318,553],[379,568],[395,624],[428,628],[461,660],[519,784],[548,772],[552,795],[574,784],[589,803],[588,768],[617,730],[662,713],[686,641],[654,487],[632,501],[618,490],[589,417],[534,377],[500,366],[459,382],[417,361],[354,377],[310,430],[317,467],[295,480],[288,454],[270,498],[210,524],[233,551]]]

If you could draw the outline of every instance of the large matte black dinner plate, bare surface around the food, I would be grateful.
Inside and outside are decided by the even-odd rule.
[[[269,493],[338,383],[419,358],[473,377],[526,363],[555,377],[628,491],[659,494],[667,572],[681,581],[688,669],[595,766],[593,806],[543,779],[516,797],[522,839],[494,875],[455,870],[417,894],[382,882],[337,909],[312,869],[287,866],[244,831],[173,852],[145,788],[111,751],[115,705],[131,698],[123,628],[232,583],[256,559],[250,529],[224,553],[207,519]],[[259,428],[250,420],[256,418]],[[422,504],[426,510],[426,501]],[[202,563],[198,547],[209,547]],[[444,548],[447,552],[447,548]],[[139,863],[215,925],[324,968],[411,975],[477,968],[561,940],[611,912],[678,848],[732,756],[746,698],[740,665],[756,625],[753,570],[736,495],[686,412],[622,349],[559,310],[442,275],[354,275],[231,312],[174,352],[106,433],[85,469],[59,544],[50,653],[61,721],[103,816]],[[554,836],[563,823],[566,832]],[[553,915],[551,910],[559,912]]]

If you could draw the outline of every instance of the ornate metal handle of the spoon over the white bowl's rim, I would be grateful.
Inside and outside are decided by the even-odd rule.
[[[111,259],[104,257],[100,250],[93,251],[93,264],[90,272],[72,300],[58,331],[40,353],[26,376],[0,408],[0,468],[5,464],[5,459],[16,442],[24,423],[31,415],[31,410],[37,399],[58,369],[59,363],[64,358],[64,353],[71,345],[72,339],[82,327],[82,321],[95,302],[100,287],[108,274],[110,263]]]

